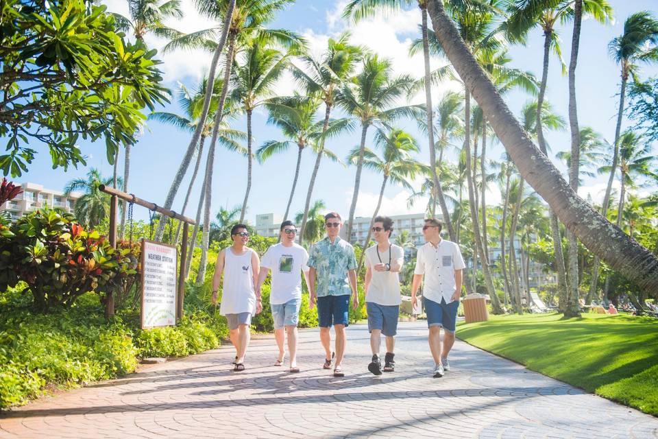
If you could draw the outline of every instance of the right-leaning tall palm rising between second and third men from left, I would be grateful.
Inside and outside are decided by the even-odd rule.
[[[350,34],[345,33],[341,34],[337,40],[329,38],[327,50],[319,60],[310,55],[300,56],[305,69],[293,67],[293,75],[302,86],[306,95],[319,95],[325,105],[322,137],[315,157],[313,174],[311,174],[310,182],[308,183],[306,202],[304,204],[304,211],[302,212],[300,240],[306,236],[304,228],[308,219],[310,197],[313,194],[313,187],[315,185],[317,171],[320,167],[320,161],[322,160],[322,156],[324,156],[324,134],[329,127],[329,116],[336,101],[336,93],[338,88],[354,73],[356,64],[361,60],[362,54],[363,49],[350,45]]]

